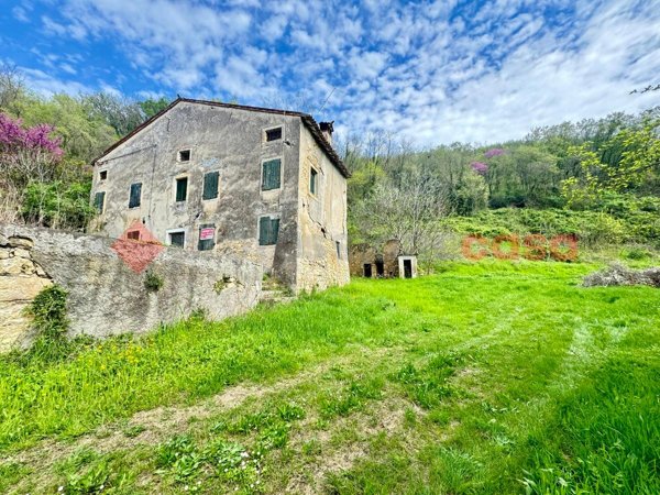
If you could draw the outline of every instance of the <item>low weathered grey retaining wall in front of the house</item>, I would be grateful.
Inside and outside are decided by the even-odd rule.
[[[255,263],[215,252],[161,248],[148,267],[135,273],[118,255],[113,242],[0,226],[0,350],[25,337],[30,322],[22,310],[52,283],[68,292],[72,336],[145,332],[196,309],[221,319],[258,301],[263,268]],[[160,290],[147,290],[146,271],[162,278]]]

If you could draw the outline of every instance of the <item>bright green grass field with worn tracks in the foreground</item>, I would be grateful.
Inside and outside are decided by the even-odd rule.
[[[0,492],[660,493],[660,292],[442,270],[0,360]]]

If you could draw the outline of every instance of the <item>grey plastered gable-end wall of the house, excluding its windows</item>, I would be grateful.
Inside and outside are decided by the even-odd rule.
[[[213,224],[216,249],[262,264],[296,285],[299,117],[180,102],[95,165],[92,198],[106,193],[95,228],[119,238],[142,222],[161,242],[180,230],[186,250],[197,251],[199,228]],[[266,129],[282,127],[267,142]],[[190,160],[180,162],[180,150]],[[282,161],[282,186],[262,190],[262,163]],[[106,172],[107,178],[100,178]],[[219,173],[219,195],[202,199],[204,174]],[[176,179],[187,177],[185,201],[176,201]],[[141,205],[129,208],[131,184],[142,183]],[[279,218],[276,245],[258,244],[258,219]]]

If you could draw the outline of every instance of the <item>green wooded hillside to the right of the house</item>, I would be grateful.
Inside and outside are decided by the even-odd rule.
[[[660,242],[660,108],[532,129],[519,141],[415,150],[386,133],[341,143],[352,241],[399,239],[427,258],[450,234]],[[534,117],[530,116],[530,125]]]

